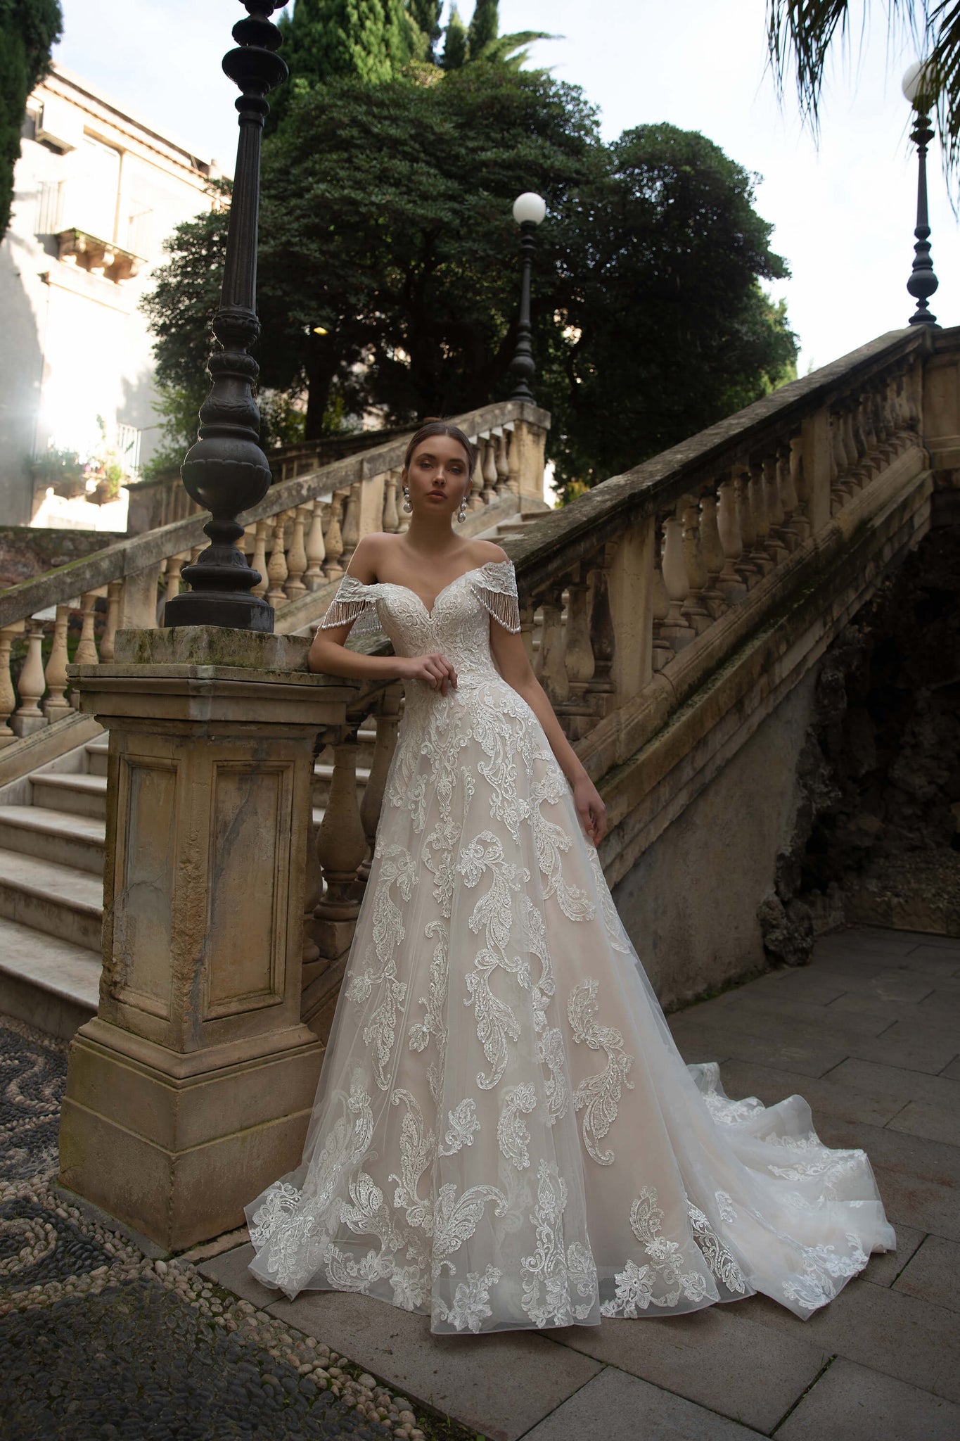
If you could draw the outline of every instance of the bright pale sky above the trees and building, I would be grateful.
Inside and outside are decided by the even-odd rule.
[[[55,59],[122,108],[233,173],[233,84],[220,71],[237,0],[62,0]],[[471,0],[463,0],[466,19]],[[756,209],[790,280],[784,298],[800,343],[800,375],[907,324],[917,206],[917,151],[901,76],[915,59],[889,40],[885,6],[855,22],[838,50],[820,108],[819,144],[800,124],[793,91],[777,101],[766,62],[766,0],[501,0],[501,33],[547,30],[531,61],[580,85],[600,108],[604,138],[668,121],[699,130],[756,173]],[[940,148],[928,159],[930,225],[940,290],[931,310],[960,323],[957,232]]]

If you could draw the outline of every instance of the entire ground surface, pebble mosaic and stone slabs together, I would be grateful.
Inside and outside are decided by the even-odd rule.
[[[956,1441],[960,940],[835,932],[809,967],[671,1025],[687,1059],[721,1062],[730,1095],[799,1091],[828,1144],[872,1161],[898,1251],[807,1321],[756,1295],[432,1336],[426,1317],[363,1295],[278,1301],[250,1277],[249,1244],[157,1264],[56,1192],[65,1048],[0,1022],[4,1441]]]

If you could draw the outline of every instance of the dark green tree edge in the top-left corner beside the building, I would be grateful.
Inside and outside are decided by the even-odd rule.
[[[49,75],[62,30],[59,0],[0,0],[0,238],[10,225],[27,97]]]

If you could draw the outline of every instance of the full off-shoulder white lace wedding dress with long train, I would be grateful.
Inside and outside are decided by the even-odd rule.
[[[491,623],[491,617],[494,617]],[[491,624],[510,561],[446,585],[344,575],[322,624],[440,651],[406,684],[302,1164],[246,1206],[268,1287],[358,1291],[433,1331],[594,1326],[754,1291],[810,1316],[895,1248],[862,1150],[792,1095],[685,1065],[573,791]]]

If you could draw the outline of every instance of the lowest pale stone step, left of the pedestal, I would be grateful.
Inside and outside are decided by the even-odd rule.
[[[98,951],[0,916],[0,1010],[69,1040],[96,1014]]]

